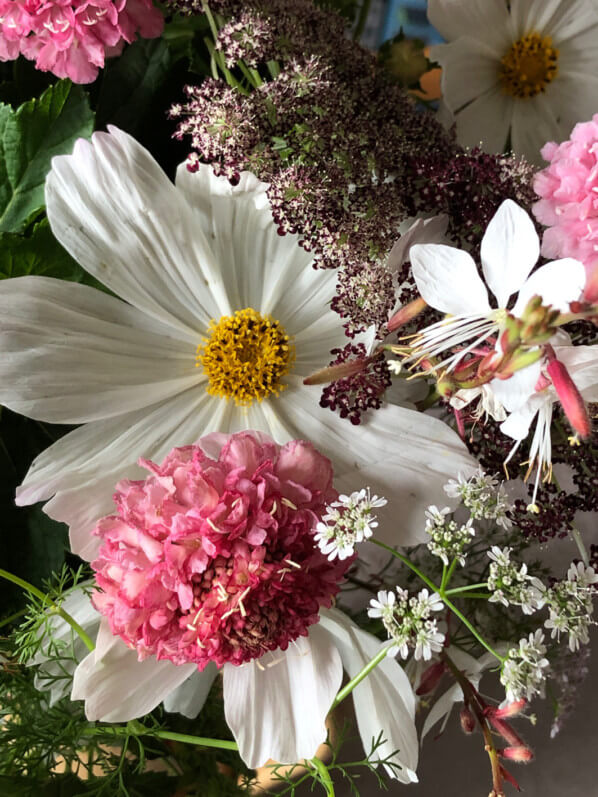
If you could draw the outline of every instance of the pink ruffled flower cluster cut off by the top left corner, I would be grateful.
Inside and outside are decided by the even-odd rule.
[[[152,0],[0,0],[0,61],[24,55],[43,72],[91,83],[106,56],[163,27]]]

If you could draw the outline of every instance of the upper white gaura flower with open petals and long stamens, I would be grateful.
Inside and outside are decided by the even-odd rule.
[[[460,347],[438,364],[450,371],[489,336],[500,334],[509,298],[514,293],[517,299],[508,312],[516,317],[533,296],[540,296],[543,305],[566,311],[584,288],[585,269],[577,260],[565,258],[541,266],[530,276],[539,254],[540,243],[532,220],[510,199],[501,204],[482,238],[486,284],[468,252],[439,244],[413,246],[411,263],[418,290],[427,304],[448,316],[419,333],[414,356],[438,357],[447,349]],[[494,295],[497,308],[491,307],[487,288]],[[534,378],[533,367],[522,369],[523,373],[533,380],[531,392],[537,374]],[[506,385],[511,382],[513,389],[515,385],[520,387],[519,380],[505,380]]]

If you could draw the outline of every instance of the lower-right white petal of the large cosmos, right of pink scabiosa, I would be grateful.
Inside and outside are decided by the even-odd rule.
[[[276,404],[263,402],[262,409],[279,443],[314,440],[334,462],[335,483],[348,493],[359,481],[388,499],[376,510],[376,536],[390,545],[422,542],[426,507],[445,500],[443,486],[449,478],[476,469],[465,445],[445,423],[403,407],[386,404],[354,427],[318,406],[304,389],[281,394]]]

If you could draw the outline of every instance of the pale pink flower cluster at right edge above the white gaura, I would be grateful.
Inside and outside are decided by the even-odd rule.
[[[535,177],[541,197],[533,206],[548,229],[542,240],[546,257],[573,257],[586,267],[586,297],[598,298],[598,114],[575,125],[562,144],[549,142],[542,157],[550,165]],[[591,295],[595,294],[595,295]]]

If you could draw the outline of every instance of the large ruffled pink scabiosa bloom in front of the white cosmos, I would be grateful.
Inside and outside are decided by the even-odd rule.
[[[241,432],[140,464],[151,475],[120,482],[118,514],[95,528],[93,600],[112,632],[140,660],[200,670],[305,636],[352,561],[330,562],[314,543],[338,496],[330,461],[307,442]]]

